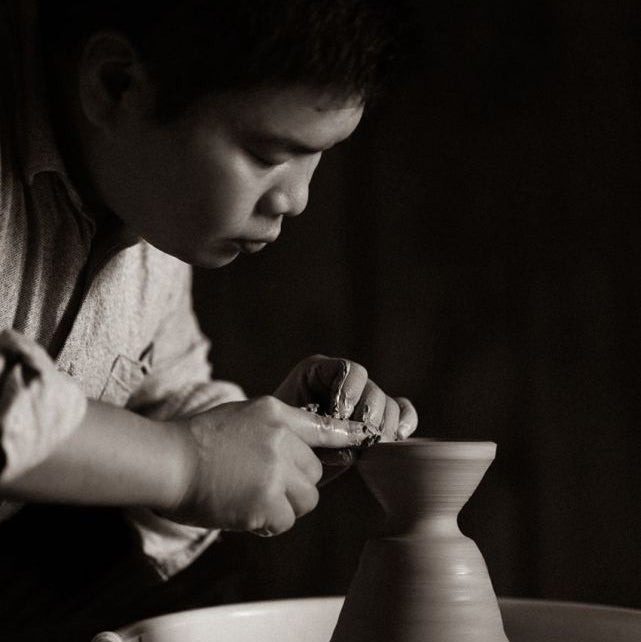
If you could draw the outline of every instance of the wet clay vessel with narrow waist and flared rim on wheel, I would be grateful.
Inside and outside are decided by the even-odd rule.
[[[457,522],[495,453],[434,439],[363,453],[387,525],[365,544],[331,642],[507,642],[485,560]]]

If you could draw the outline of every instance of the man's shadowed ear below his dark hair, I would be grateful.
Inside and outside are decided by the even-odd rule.
[[[101,129],[117,126],[132,109],[151,104],[145,68],[132,43],[119,33],[95,33],[87,40],[78,79],[82,110]]]

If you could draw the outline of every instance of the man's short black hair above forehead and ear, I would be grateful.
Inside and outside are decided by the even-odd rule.
[[[395,0],[40,0],[46,45],[126,35],[170,120],[207,93],[305,84],[363,102],[380,89],[402,21]]]

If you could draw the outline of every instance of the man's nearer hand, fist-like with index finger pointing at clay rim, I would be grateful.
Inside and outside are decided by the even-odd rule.
[[[227,403],[188,420],[193,465],[176,521],[275,535],[318,502],[312,447],[346,448],[361,423],[320,417],[275,397]]]

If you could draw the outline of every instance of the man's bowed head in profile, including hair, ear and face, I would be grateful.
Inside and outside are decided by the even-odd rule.
[[[94,197],[192,263],[274,240],[379,85],[389,4],[41,2],[47,49],[73,70],[63,104]]]

